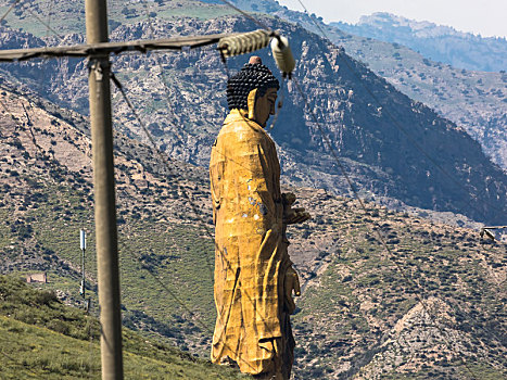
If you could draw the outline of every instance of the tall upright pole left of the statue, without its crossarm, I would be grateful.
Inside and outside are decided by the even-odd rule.
[[[107,41],[105,0],[86,0],[87,43]],[[109,54],[91,55],[90,91],[102,379],[123,379],[122,317],[114,190]]]

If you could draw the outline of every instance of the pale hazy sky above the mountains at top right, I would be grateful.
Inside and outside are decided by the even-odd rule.
[[[278,0],[303,11],[297,0]],[[302,0],[326,22],[356,23],[362,15],[389,12],[417,21],[448,25],[462,31],[507,37],[507,0]]]

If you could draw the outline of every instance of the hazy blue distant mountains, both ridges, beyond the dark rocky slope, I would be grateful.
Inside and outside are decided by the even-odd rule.
[[[327,36],[338,46],[344,47],[347,54],[364,62],[409,98],[429,105],[441,116],[466,128],[467,132],[481,143],[484,152],[494,163],[504,169],[507,168],[507,138],[504,134],[507,126],[503,122],[507,112],[505,39],[481,38],[445,26],[439,27],[385,14],[372,16],[372,21],[368,20],[366,23],[368,25],[398,23],[402,26],[395,30],[386,27],[385,33],[373,26],[356,27],[340,23],[332,23],[329,26],[324,24],[318,15],[312,15],[314,20],[312,22],[307,14],[290,11],[272,0],[255,2],[235,0],[233,2],[248,11],[254,11],[253,7],[256,5],[255,11],[276,14],[317,35],[320,30],[314,22],[320,24]],[[394,20],[390,21],[391,17]],[[354,28],[356,29],[353,30]],[[378,39],[371,38],[366,31],[363,33],[363,28],[368,30],[372,28],[375,33],[371,31],[371,36]],[[385,34],[390,33],[397,39],[394,36],[386,38]],[[419,46],[415,48],[411,43],[413,34],[421,36],[431,34],[439,37],[436,41],[417,39]],[[433,48],[442,49],[439,49],[436,55],[424,54],[426,50]],[[457,62],[467,61],[468,64],[472,64],[470,61],[473,61],[473,69],[492,69],[490,65],[494,65],[497,73],[466,71],[457,68],[462,66],[460,64],[453,67],[429,59],[433,56],[442,62],[453,62],[447,53],[454,56],[455,54],[451,52],[455,50],[458,51]],[[487,67],[479,66],[480,64],[486,64]]]

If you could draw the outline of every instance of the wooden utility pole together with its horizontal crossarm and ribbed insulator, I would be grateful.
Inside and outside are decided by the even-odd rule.
[[[0,62],[16,62],[35,58],[49,59],[56,56],[88,58],[89,60],[88,84],[90,91],[90,122],[93,155],[102,380],[122,380],[124,375],[113,162],[113,123],[110,89],[110,54],[119,54],[126,51],[137,51],[140,53],[147,53],[152,50],[183,51],[185,49],[197,49],[217,43],[220,54],[223,59],[225,59],[263,49],[268,46],[270,38],[277,37],[278,34],[272,30],[259,29],[245,34],[228,33],[109,42],[106,0],[86,0],[85,9],[87,45],[0,50]],[[283,52],[280,52],[278,55],[280,54],[283,55]],[[280,58],[278,58],[278,61],[279,60]],[[83,255],[84,254],[85,251],[83,250]],[[85,259],[84,256],[83,259]],[[85,274],[84,263],[85,261],[83,261],[83,274]],[[83,295],[85,295],[85,277],[83,277],[81,287]]]

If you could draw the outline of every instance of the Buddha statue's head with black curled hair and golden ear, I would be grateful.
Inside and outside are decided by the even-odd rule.
[[[261,58],[252,56],[241,71],[227,81],[229,110],[248,111],[249,118],[265,127],[269,115],[275,114],[278,79]]]

